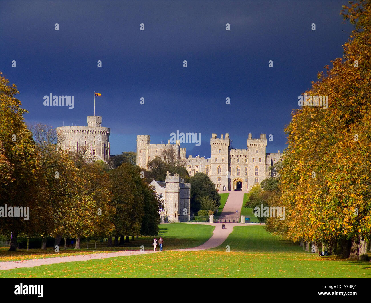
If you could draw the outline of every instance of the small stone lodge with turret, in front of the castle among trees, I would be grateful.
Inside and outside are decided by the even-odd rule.
[[[191,184],[184,183],[179,174],[171,176],[167,173],[165,182],[152,180],[150,185],[164,202],[164,212],[161,213],[161,222],[167,217],[168,222],[185,222],[190,220],[191,211]]]

